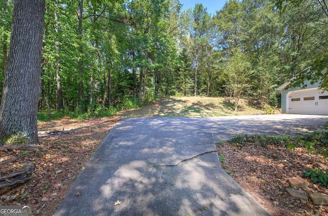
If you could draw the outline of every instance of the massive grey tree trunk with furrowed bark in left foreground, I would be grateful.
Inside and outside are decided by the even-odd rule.
[[[0,108],[0,138],[18,135],[38,143],[37,103],[45,0],[16,0]],[[3,145],[3,144],[0,144]]]

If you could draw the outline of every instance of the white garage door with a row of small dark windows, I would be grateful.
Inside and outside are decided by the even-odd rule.
[[[290,92],[287,97],[290,114],[328,115],[328,92],[313,88]]]

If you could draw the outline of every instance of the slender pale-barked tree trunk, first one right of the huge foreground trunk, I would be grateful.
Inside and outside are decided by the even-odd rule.
[[[57,2],[55,2],[55,32],[56,37],[58,36],[58,13],[57,13]],[[63,101],[63,91],[61,90],[61,76],[60,76],[60,56],[59,56],[59,42],[55,41],[55,49],[56,49],[56,78],[57,78],[57,105],[56,110],[58,112],[64,111],[64,101]],[[47,99],[47,98],[46,98]]]

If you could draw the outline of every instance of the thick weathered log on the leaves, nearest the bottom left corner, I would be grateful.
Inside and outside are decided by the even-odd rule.
[[[28,182],[33,175],[34,167],[34,164],[30,162],[24,166],[23,171],[18,171],[9,176],[0,178],[0,195],[14,187]]]

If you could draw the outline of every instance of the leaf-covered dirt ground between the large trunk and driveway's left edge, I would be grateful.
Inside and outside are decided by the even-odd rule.
[[[119,116],[77,121],[64,118],[39,124],[39,131],[71,130],[69,134],[40,137],[45,153],[0,152],[0,161],[24,155],[13,163],[3,164],[0,177],[21,169],[32,161],[35,169],[31,180],[0,196],[1,205],[30,205],[34,215],[53,215],[86,162],[96,152]]]

